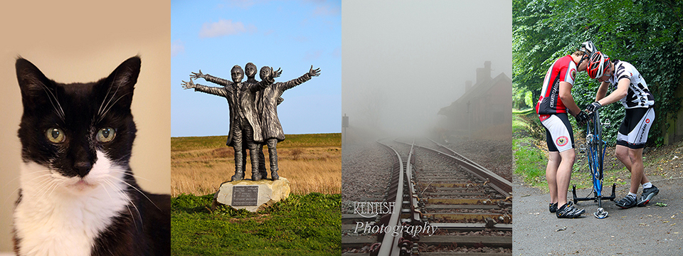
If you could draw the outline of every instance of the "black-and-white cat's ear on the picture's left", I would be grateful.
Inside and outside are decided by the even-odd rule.
[[[23,106],[40,106],[55,97],[55,82],[46,78],[36,65],[24,58],[16,59],[16,80],[21,88]]]

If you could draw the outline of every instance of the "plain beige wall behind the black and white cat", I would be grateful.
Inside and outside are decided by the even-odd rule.
[[[131,166],[140,186],[170,193],[170,4],[167,1],[16,1],[0,4],[0,252],[12,250],[21,93],[17,55],[57,82],[91,82],[141,55]],[[144,178],[144,179],[143,179]]]

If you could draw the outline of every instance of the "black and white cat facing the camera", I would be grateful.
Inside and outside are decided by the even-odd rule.
[[[62,84],[16,60],[23,116],[17,255],[170,255],[171,198],[129,166],[138,56],[97,82]]]

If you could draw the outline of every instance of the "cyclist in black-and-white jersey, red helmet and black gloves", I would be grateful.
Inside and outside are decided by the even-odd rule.
[[[631,186],[628,195],[617,201],[616,205],[624,209],[645,206],[660,192],[647,179],[642,165],[642,149],[647,142],[647,132],[655,120],[655,97],[633,65],[621,60],[610,62],[610,58],[599,51],[591,55],[586,72],[600,82],[595,102],[588,105],[586,110],[595,111],[617,101],[621,101],[626,109],[617,134],[615,154],[631,172]],[[613,92],[605,96],[610,85],[615,85]],[[636,198],[641,184],[642,195]]]

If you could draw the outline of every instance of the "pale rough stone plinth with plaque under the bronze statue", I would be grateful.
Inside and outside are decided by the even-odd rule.
[[[234,194],[233,191],[235,191]],[[264,210],[288,196],[290,196],[290,181],[287,181],[287,178],[280,177],[277,181],[262,179],[260,181],[223,182],[213,199],[215,203],[256,212]]]

